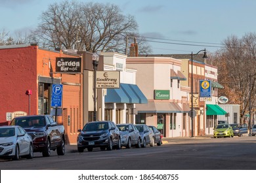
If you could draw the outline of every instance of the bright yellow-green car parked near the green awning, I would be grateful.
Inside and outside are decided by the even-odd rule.
[[[214,129],[213,137],[234,137],[234,131],[229,124],[219,124]]]

